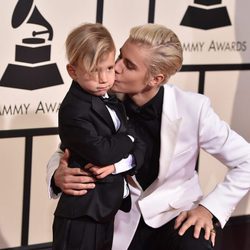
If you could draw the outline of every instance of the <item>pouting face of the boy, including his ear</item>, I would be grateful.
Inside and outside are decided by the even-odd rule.
[[[80,66],[67,65],[71,78],[88,93],[103,96],[113,86],[115,80],[115,52],[107,53],[96,65],[93,73],[87,73]]]

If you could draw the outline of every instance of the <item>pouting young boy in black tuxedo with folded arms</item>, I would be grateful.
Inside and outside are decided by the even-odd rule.
[[[95,189],[84,196],[61,195],[53,249],[109,250],[116,212],[130,210],[125,171],[131,174],[141,166],[143,144],[128,133],[120,101],[107,94],[115,79],[115,46],[108,30],[101,24],[77,27],[68,35],[66,52],[73,82],[59,110],[61,147],[70,151],[70,166],[91,162],[103,166],[98,174],[106,177],[96,176]]]

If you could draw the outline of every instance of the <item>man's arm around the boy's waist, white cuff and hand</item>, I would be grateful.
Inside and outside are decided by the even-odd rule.
[[[57,198],[63,191],[69,195],[80,196],[88,189],[95,188],[95,179],[81,168],[68,167],[69,151],[58,149],[47,165],[47,185],[50,198]]]

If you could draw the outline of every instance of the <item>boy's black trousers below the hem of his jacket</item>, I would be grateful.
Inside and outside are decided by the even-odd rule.
[[[111,250],[114,219],[98,223],[89,217],[67,219],[55,216],[53,250]]]

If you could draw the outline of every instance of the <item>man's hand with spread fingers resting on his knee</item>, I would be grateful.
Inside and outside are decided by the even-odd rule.
[[[179,235],[183,235],[189,227],[194,226],[194,237],[198,239],[200,231],[203,228],[205,230],[205,239],[210,239],[214,246],[216,234],[212,218],[212,213],[205,207],[199,205],[189,211],[181,212],[175,220],[175,229],[180,227]]]

